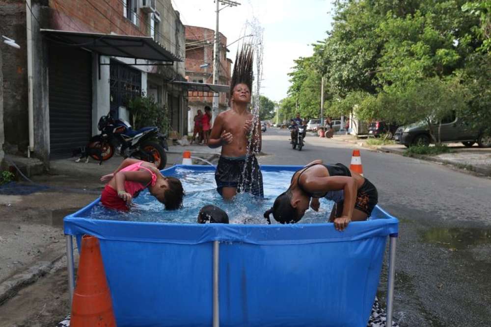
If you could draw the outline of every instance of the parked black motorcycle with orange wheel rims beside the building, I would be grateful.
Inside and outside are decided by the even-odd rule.
[[[159,133],[159,127],[134,130],[128,122],[114,119],[109,113],[99,119],[97,128],[101,133],[92,136],[89,142],[89,148],[101,150],[99,153],[102,158],[98,154],[90,155],[95,160],[108,160],[117,150],[124,158],[134,157],[153,162],[159,169],[165,167],[165,150],[168,151],[168,147],[165,136]]]

